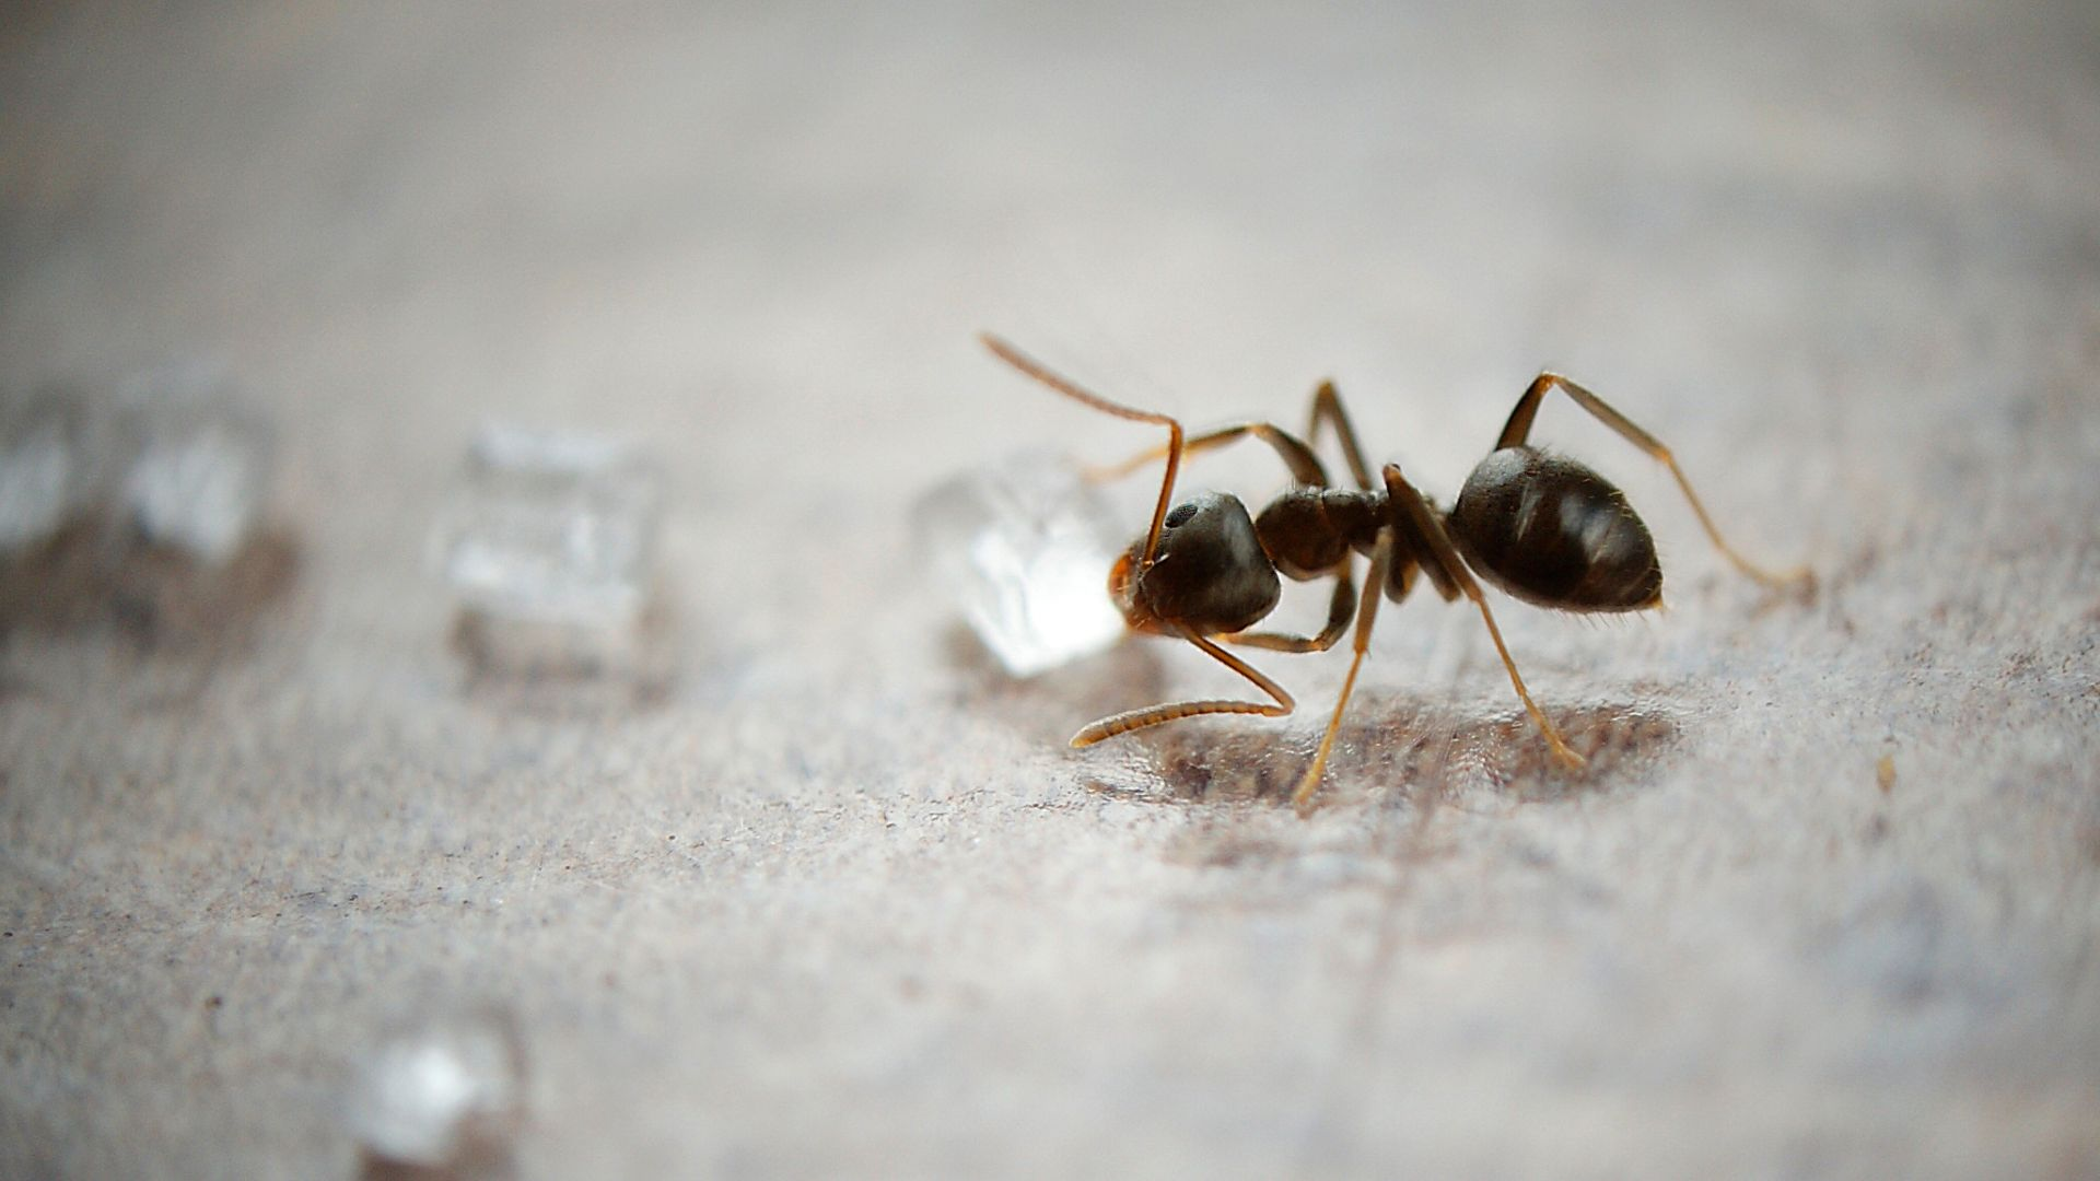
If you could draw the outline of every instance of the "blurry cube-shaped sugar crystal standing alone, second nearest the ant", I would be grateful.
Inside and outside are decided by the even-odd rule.
[[[569,670],[632,658],[659,500],[655,467],[626,443],[483,429],[437,525],[468,656]]]

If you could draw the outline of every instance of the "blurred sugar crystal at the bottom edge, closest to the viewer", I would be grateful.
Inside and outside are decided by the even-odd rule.
[[[525,1053],[500,1011],[435,1013],[380,1036],[357,1063],[344,1124],[368,1160],[496,1173],[525,1120]]]

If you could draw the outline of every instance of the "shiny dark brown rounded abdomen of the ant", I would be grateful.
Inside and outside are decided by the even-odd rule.
[[[1638,612],[1663,599],[1648,527],[1575,460],[1504,448],[1472,469],[1447,521],[1474,569],[1527,603]]]

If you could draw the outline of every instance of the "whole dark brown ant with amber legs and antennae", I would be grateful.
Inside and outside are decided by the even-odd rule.
[[[1380,483],[1371,481],[1371,469],[1363,460],[1357,431],[1342,410],[1342,395],[1334,382],[1321,382],[1312,393],[1304,437],[1273,422],[1237,422],[1189,437],[1182,424],[1166,414],[1109,401],[1000,336],[983,332],[979,338],[1002,361],[1073,401],[1168,429],[1163,448],[1098,473],[1113,479],[1166,458],[1153,523],[1109,569],[1109,595],[1132,630],[1186,639],[1270,698],[1270,702],[1201,700],[1144,706],[1084,727],[1073,735],[1073,746],[1092,746],[1105,738],[1197,714],[1289,714],[1298,708],[1292,696],[1226,651],[1220,641],[1270,651],[1327,651],[1354,618],[1354,656],[1342,681],[1342,696],[1334,704],[1334,717],[1327,721],[1312,765],[1292,792],[1292,805],[1300,815],[1312,809],[1334,735],[1342,727],[1342,710],[1357,687],[1357,670],[1363,666],[1378,620],[1380,590],[1386,599],[1401,601],[1413,588],[1418,574],[1428,578],[1447,603],[1464,595],[1478,607],[1502,666],[1510,672],[1510,685],[1537,723],[1546,746],[1564,767],[1583,767],[1583,757],[1569,748],[1560,729],[1525,689],[1525,679],[1516,672],[1508,645],[1502,643],[1502,628],[1495,626],[1495,616],[1480,595],[1480,580],[1556,612],[1644,612],[1663,601],[1663,567],[1655,557],[1648,527],[1625,502],[1623,492],[1581,462],[1541,452],[1527,441],[1539,403],[1554,389],[1667,467],[1707,538],[1737,569],[1774,588],[1814,584],[1806,567],[1770,574],[1735,553],[1693,494],[1670,448],[1606,406],[1602,397],[1552,370],[1533,378],[1516,399],[1495,450],[1472,469],[1457,502],[1441,511],[1407,483],[1399,464],[1386,464],[1380,469]],[[1312,454],[1308,439],[1317,441],[1323,424],[1340,439],[1357,488],[1334,488],[1319,456]],[[1180,473],[1182,456],[1247,437],[1268,443],[1294,479],[1260,517],[1250,517],[1237,496],[1220,492],[1199,492],[1174,504],[1174,477]],[[1359,553],[1371,559],[1361,603],[1352,576],[1352,559]],[[1296,582],[1336,580],[1327,624],[1317,635],[1247,630],[1281,599],[1279,576]]]

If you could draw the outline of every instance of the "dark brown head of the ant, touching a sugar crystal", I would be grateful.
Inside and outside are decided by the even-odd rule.
[[[1138,630],[1184,626],[1197,635],[1237,633],[1283,597],[1254,519],[1237,496],[1199,492],[1168,511],[1153,563],[1144,538],[1109,572],[1109,593]]]

